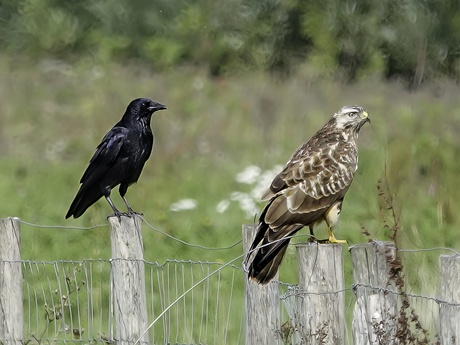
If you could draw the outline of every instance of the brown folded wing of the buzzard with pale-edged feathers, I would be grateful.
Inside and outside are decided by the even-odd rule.
[[[357,152],[352,145],[314,146],[300,151],[303,154],[293,156],[264,195],[274,199],[267,205],[264,218],[274,232],[286,225],[308,225],[321,218],[344,197],[357,169]]]

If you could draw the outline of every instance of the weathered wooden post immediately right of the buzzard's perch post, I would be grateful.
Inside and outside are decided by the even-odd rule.
[[[397,344],[398,291],[390,278],[396,258],[394,243],[374,241],[349,250],[356,294],[354,345]]]

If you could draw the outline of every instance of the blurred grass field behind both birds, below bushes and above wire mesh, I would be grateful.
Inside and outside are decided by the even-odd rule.
[[[372,123],[361,131],[360,167],[337,237],[361,243],[369,239],[366,230],[372,238],[389,238],[384,225],[391,226],[393,219],[377,190],[383,179],[400,216],[401,248],[460,249],[460,98],[458,86],[447,81],[411,93],[378,78],[354,85],[308,72],[288,80],[250,72],[210,79],[192,69],[163,74],[134,65],[32,63],[6,57],[0,57],[0,73],[0,217],[41,225],[106,223],[111,209],[105,200],[80,219],[65,220],[64,215],[102,136],[129,101],[150,97],[168,110],[154,115],[154,152],[127,198],[156,228],[190,243],[225,247],[239,241],[241,224],[256,216],[246,205],[257,202],[250,196],[255,183],[238,182],[237,174],[248,166],[263,172],[284,164],[336,110],[358,104],[368,110]],[[195,207],[172,210],[182,199],[195,200]],[[318,228],[317,235],[325,236],[325,228]],[[23,225],[21,240],[22,257],[29,260],[110,257],[108,228]],[[185,246],[147,226],[144,244],[145,258],[158,262],[227,262],[242,250],[241,245],[226,251]],[[293,253],[289,251],[287,264]],[[436,258],[429,261],[427,266],[437,264]],[[410,264],[408,260],[409,271]],[[422,279],[430,274],[417,265]],[[295,282],[288,270],[281,269],[280,279]]]

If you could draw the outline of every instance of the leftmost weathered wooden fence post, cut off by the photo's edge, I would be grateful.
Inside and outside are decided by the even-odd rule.
[[[19,219],[0,219],[0,344],[23,344]]]

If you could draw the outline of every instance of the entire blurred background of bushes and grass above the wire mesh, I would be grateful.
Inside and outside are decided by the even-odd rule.
[[[154,115],[153,156],[128,200],[172,236],[227,246],[263,207],[257,179],[340,107],[358,104],[372,124],[361,131],[360,167],[337,237],[388,239],[396,222],[400,247],[458,250],[459,7],[434,0],[3,0],[0,217],[106,223],[105,200],[78,220],[64,215],[103,135],[129,101],[150,97],[168,110]],[[260,168],[255,180],[239,182],[249,166]],[[190,209],[177,204],[183,199],[192,199]],[[144,241],[146,259],[159,262],[227,262],[241,253],[241,245],[185,246],[146,226]],[[22,255],[109,258],[109,232],[23,225]],[[437,265],[437,257],[427,260]],[[282,280],[293,276],[281,270]]]

